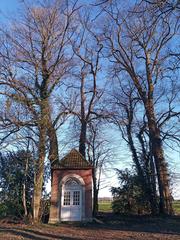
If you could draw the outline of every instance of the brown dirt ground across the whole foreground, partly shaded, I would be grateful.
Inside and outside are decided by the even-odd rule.
[[[88,224],[25,225],[0,221],[0,239],[180,240],[180,216],[119,217],[106,214]]]

